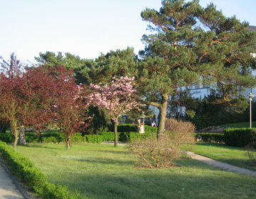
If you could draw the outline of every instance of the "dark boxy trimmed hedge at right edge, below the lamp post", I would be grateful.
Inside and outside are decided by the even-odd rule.
[[[225,129],[223,140],[225,141],[225,144],[229,146],[244,147],[250,144],[252,141],[256,141],[256,129]]]

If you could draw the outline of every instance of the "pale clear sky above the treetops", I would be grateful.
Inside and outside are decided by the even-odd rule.
[[[201,0],[213,2],[227,17],[236,16],[256,26],[255,0]],[[161,0],[0,0],[0,55],[8,60],[35,63],[39,53],[50,51],[94,59],[110,50],[144,49],[141,38],[147,22],[141,12],[159,11]]]

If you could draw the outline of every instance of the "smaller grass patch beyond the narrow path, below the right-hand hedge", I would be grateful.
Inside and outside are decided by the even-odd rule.
[[[250,166],[249,158],[245,155],[246,151],[241,147],[227,146],[225,144],[197,142],[196,146],[193,146],[193,152],[207,156],[208,158],[213,158],[217,161],[229,163],[233,166],[256,171],[256,166]]]

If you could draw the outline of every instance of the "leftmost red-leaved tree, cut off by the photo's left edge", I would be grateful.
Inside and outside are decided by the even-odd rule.
[[[2,59],[2,58],[1,58]],[[28,68],[16,56],[2,60],[0,72],[0,119],[10,125],[14,149],[24,127],[49,121],[45,111],[52,85],[47,68]]]

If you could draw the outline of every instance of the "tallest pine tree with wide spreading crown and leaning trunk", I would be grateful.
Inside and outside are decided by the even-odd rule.
[[[255,85],[248,68],[256,63],[251,54],[256,33],[247,30],[247,22],[226,18],[213,4],[204,9],[198,0],[165,0],[159,11],[146,9],[141,16],[155,32],[142,37],[139,83],[149,99],[145,103],[160,111],[158,135],[164,131],[169,97],[201,77],[208,85],[220,83],[218,103],[245,109],[245,97],[236,96],[239,86]]]

